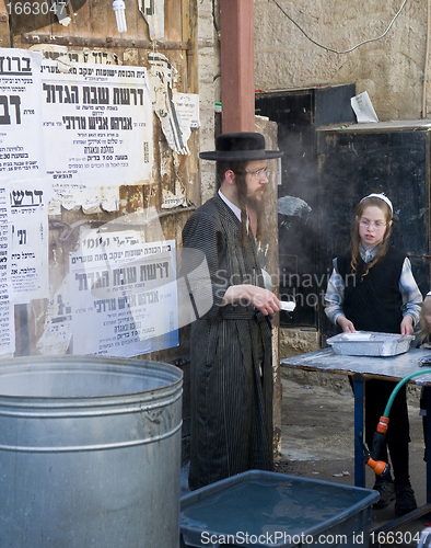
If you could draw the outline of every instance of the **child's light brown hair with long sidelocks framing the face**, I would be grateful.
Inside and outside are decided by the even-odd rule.
[[[384,199],[376,198],[374,196],[370,198],[365,198],[362,202],[360,202],[357,205],[356,209],[356,219],[351,232],[351,261],[350,261],[350,266],[352,270],[352,274],[356,274],[358,271],[358,266],[361,261],[361,253],[360,253],[360,243],[361,243],[361,238],[359,236],[359,221],[362,218],[363,212],[365,210],[366,207],[370,206],[376,206],[382,212],[384,213],[385,216],[385,221],[386,221],[386,228],[385,228],[385,233],[383,236],[383,240],[378,244],[378,248],[376,250],[376,253],[373,258],[372,261],[365,264],[365,270],[361,275],[361,281],[366,276],[366,274],[370,272],[370,269],[374,266],[385,254],[387,253],[387,248],[388,248],[388,240],[389,236],[392,232],[392,226],[391,226],[391,220],[392,220],[392,212],[391,207],[386,204]]]

